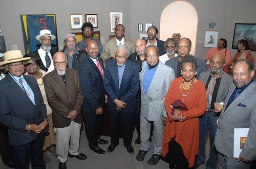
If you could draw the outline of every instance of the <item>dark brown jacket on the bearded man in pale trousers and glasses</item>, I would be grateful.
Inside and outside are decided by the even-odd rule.
[[[76,110],[79,113],[74,121],[82,123],[80,111],[83,103],[83,94],[77,70],[66,70],[66,83],[67,86],[56,70],[44,76],[46,96],[48,104],[52,108],[53,126],[56,128],[70,125],[71,120],[68,119],[68,115],[71,110]]]

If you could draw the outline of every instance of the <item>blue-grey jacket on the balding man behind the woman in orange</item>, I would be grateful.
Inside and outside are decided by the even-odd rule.
[[[171,67],[174,69],[174,75],[175,77],[177,76],[177,67],[178,67],[178,59],[179,57],[174,57],[173,59],[169,59],[168,61],[165,62],[165,65]],[[204,60],[197,58],[197,79],[200,77],[200,73],[206,71],[206,63]]]

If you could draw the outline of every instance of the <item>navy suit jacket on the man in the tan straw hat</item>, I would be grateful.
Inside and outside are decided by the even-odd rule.
[[[12,146],[28,144],[36,139],[38,134],[26,131],[26,124],[39,125],[47,118],[46,105],[36,79],[26,75],[24,79],[34,93],[35,105],[10,74],[0,81],[0,122],[9,127]]]

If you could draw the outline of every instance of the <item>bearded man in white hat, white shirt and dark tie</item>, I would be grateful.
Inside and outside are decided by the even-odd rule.
[[[41,30],[39,35],[35,37],[41,44],[41,47],[35,50],[33,53],[39,58],[39,67],[40,69],[51,72],[54,70],[52,57],[57,52],[57,50],[52,49],[52,40],[56,37],[51,35],[50,30]]]

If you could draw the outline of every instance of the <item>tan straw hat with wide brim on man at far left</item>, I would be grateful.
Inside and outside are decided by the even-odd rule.
[[[23,58],[22,51],[20,50],[10,50],[4,53],[5,61],[0,62],[0,66],[4,66],[10,63],[29,61],[31,58]]]

